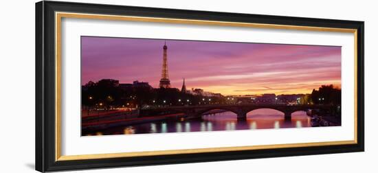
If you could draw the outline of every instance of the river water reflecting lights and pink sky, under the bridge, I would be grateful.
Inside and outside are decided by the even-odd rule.
[[[311,127],[311,118],[304,111],[293,113],[291,121],[285,121],[284,114],[271,109],[258,109],[247,114],[247,121],[238,122],[232,112],[203,115],[201,119],[182,121],[160,121],[135,124],[98,132],[100,135],[142,134],[162,132],[201,132],[215,130],[247,130],[264,128]],[[90,134],[92,135],[92,134]],[[93,134],[95,135],[95,134]]]

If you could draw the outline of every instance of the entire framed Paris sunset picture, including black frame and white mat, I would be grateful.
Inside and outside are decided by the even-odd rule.
[[[36,3],[36,170],[364,151],[364,22]]]

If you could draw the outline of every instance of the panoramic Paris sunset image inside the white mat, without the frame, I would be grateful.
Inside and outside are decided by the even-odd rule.
[[[81,135],[341,126],[341,47],[81,36]]]

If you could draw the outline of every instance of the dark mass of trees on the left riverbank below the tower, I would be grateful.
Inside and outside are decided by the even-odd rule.
[[[182,106],[199,104],[222,104],[225,98],[208,97],[183,93],[179,89],[158,88],[149,85],[126,84],[120,86],[118,80],[103,79],[89,81],[82,86],[82,105],[88,108],[115,108],[145,106]]]

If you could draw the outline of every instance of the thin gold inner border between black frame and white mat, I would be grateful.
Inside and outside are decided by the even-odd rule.
[[[232,26],[232,27],[254,27],[265,29],[283,29],[283,30],[307,30],[318,32],[346,32],[354,34],[354,52],[355,52],[355,112],[354,112],[354,140],[350,141],[326,141],[326,142],[311,142],[311,143],[285,143],[273,145],[260,146],[235,146],[235,147],[221,147],[221,148],[195,148],[184,150],[157,150],[145,152],[119,152],[107,154],[83,154],[83,155],[62,155],[61,154],[61,21],[63,18],[74,19],[99,19],[99,20],[113,20],[113,21],[139,21],[139,22],[154,22],[154,23],[176,23],[189,25],[218,25],[218,26]],[[55,112],[55,160],[56,161],[71,161],[82,159],[109,159],[119,157],[143,157],[155,156],[165,154],[192,154],[201,152],[225,152],[225,151],[241,151],[241,150],[262,150],[273,148],[298,148],[310,146],[336,146],[345,144],[357,143],[357,30],[335,27],[311,27],[298,25],[276,25],[263,23],[238,23],[226,21],[203,21],[191,19],[171,19],[171,18],[155,18],[144,16],[118,16],[106,14],[85,14],[85,13],[71,13],[71,12],[56,12],[55,13],[55,59],[56,59],[56,112]]]

